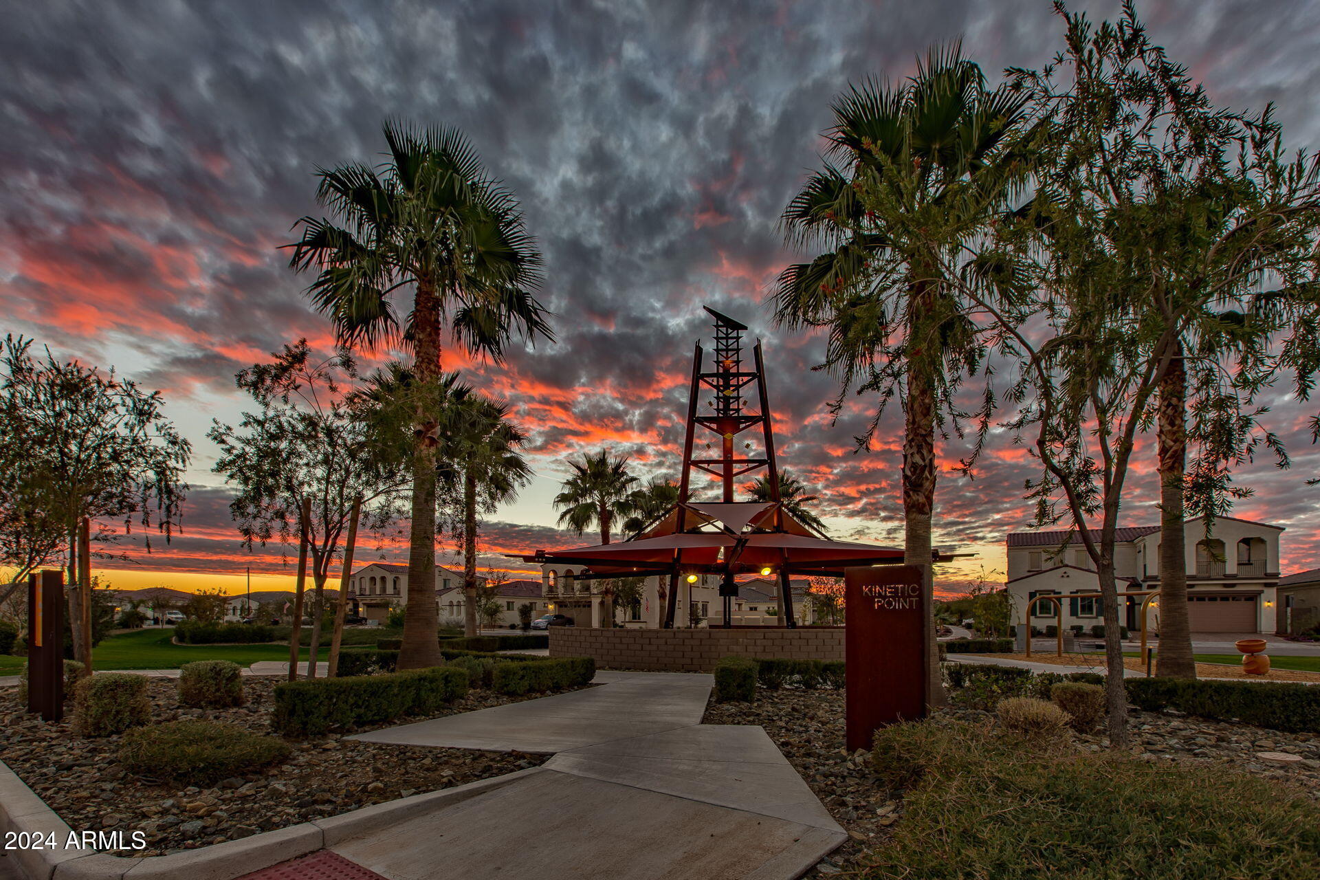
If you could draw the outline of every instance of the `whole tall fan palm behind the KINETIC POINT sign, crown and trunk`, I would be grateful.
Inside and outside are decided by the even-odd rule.
[[[869,80],[832,106],[826,160],[781,216],[792,245],[824,245],[788,267],[774,292],[776,319],[829,327],[826,364],[843,389],[903,401],[904,562],[931,565],[937,424],[956,417],[960,373],[983,344],[946,268],[1001,214],[1024,175],[1014,145],[1028,96],[989,90],[961,46],[935,49],[906,83]],[[900,393],[902,392],[902,393]],[[989,408],[977,413],[989,420]],[[927,607],[933,606],[927,584]],[[933,617],[927,620],[929,691],[942,701]]]

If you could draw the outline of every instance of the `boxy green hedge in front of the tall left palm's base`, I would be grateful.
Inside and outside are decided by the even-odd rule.
[[[429,712],[466,694],[467,672],[451,666],[286,681],[275,687],[271,723],[289,736],[318,736],[331,730]]]

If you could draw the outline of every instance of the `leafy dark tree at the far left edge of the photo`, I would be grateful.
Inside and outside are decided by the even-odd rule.
[[[165,418],[160,392],[114,369],[103,375],[61,361],[49,348],[37,358],[32,342],[11,335],[0,352],[0,503],[15,504],[0,521],[20,529],[3,540],[5,553],[20,553],[12,561],[30,570],[54,551],[58,533],[77,571],[83,517],[102,526],[121,517],[125,532],[136,520],[148,530],[148,551],[152,528],[169,541],[183,508],[191,447]],[[86,590],[69,590],[70,620],[81,619],[79,592]],[[88,648],[74,639],[75,660],[84,661]]]

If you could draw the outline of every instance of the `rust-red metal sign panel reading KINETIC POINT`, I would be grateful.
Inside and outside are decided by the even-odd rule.
[[[871,748],[878,727],[925,718],[927,566],[847,569],[847,749]]]

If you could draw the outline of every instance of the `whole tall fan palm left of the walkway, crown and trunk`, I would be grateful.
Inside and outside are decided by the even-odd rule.
[[[512,194],[453,128],[385,123],[387,161],[317,169],[317,201],[331,219],[305,216],[290,265],[317,272],[306,293],[345,346],[411,347],[422,387],[440,380],[451,343],[499,361],[516,334],[550,338],[532,290],[541,256]],[[409,296],[411,294],[411,296]],[[409,297],[400,323],[393,299]],[[436,639],[436,445],[414,413],[408,613],[400,669],[442,662]]]

